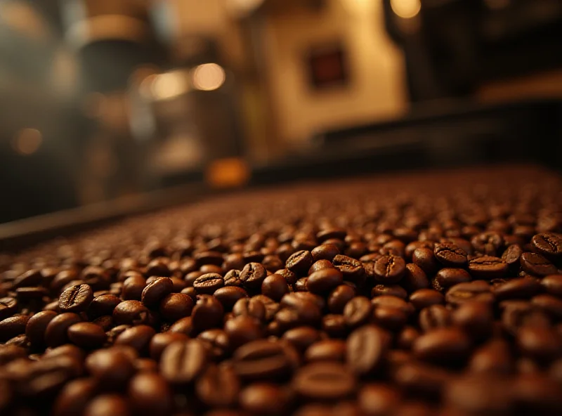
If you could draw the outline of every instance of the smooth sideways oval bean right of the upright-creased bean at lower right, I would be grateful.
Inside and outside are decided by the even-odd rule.
[[[471,348],[469,337],[454,327],[436,328],[415,340],[414,355],[433,363],[457,364],[468,356]]]

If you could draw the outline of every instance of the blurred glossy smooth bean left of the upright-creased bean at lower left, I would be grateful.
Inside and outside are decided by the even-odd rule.
[[[103,389],[122,389],[133,376],[134,358],[124,349],[99,349],[86,358],[86,369]]]

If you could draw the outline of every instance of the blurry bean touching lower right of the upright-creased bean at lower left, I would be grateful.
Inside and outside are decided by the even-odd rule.
[[[214,408],[228,408],[238,402],[240,379],[230,367],[209,365],[195,384],[197,397]]]

